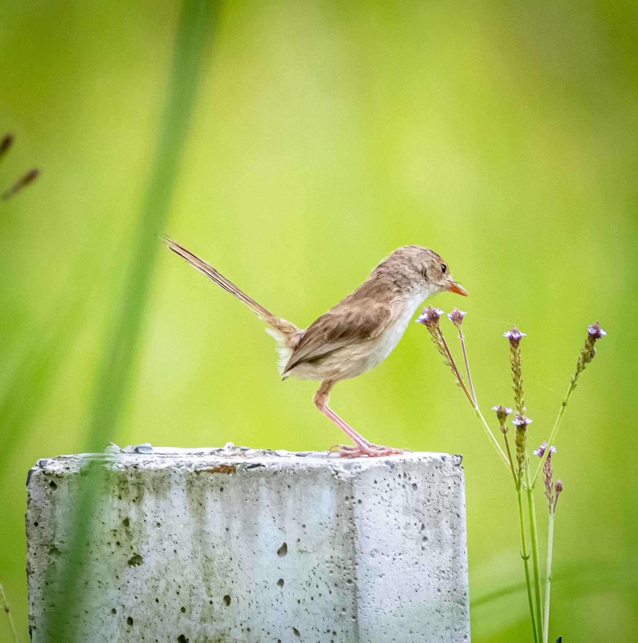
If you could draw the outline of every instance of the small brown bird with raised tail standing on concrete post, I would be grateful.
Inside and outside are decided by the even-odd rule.
[[[368,442],[328,406],[328,399],[338,381],[365,373],[387,358],[427,297],[446,291],[467,296],[436,252],[421,246],[396,249],[357,290],[303,330],[274,316],[184,246],[167,237],[164,242],[191,266],[251,307],[268,325],[266,331],[278,344],[279,374],[283,379],[292,375],[321,382],[314,397],[315,405],[355,443],[333,449],[339,449],[343,457],[402,453],[400,449]]]

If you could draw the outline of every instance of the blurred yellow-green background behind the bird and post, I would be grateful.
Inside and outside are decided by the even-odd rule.
[[[0,187],[42,170],[0,204],[0,582],[25,638],[24,480],[91,444],[178,15],[140,0],[0,10],[0,133],[16,135]],[[436,249],[470,291],[435,302],[470,313],[484,410],[511,404],[502,332],[528,334],[532,442],[599,319],[609,336],[554,458],[551,634],[583,643],[638,637],[637,27],[635,3],[602,0],[226,3],[166,230],[300,326],[397,246]],[[315,383],[279,381],[260,322],[166,251],[139,347],[121,446],[342,441]],[[473,638],[527,640],[511,480],[425,329],[332,403],[371,440],[463,453]]]

